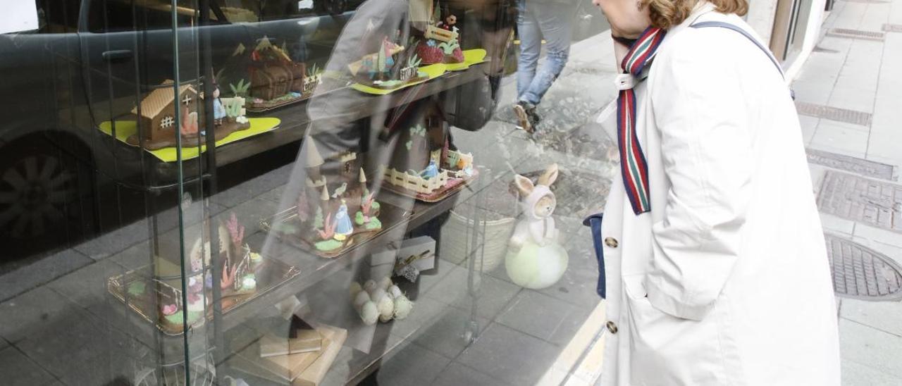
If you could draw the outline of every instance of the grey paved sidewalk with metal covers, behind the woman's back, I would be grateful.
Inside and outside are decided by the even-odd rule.
[[[836,2],[793,85],[833,259],[878,259],[854,273],[863,287],[834,274],[859,296],[837,298],[844,385],[902,384],[902,303],[879,288],[902,262],[900,26],[902,0]]]

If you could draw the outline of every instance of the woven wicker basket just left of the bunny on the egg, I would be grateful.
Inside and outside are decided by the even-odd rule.
[[[455,264],[466,260],[466,237],[472,232],[473,220],[458,215],[454,210],[441,230],[439,250],[441,259]],[[504,262],[508,242],[511,240],[516,219],[513,217],[500,220],[480,221],[485,225],[485,250],[483,253],[482,271],[492,271]],[[478,267],[477,267],[478,268]]]

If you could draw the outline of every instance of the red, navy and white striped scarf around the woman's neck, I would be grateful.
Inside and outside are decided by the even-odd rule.
[[[642,73],[654,58],[658,45],[667,31],[649,27],[642,32],[623,58],[623,74],[617,77],[620,96],[617,97],[617,145],[620,149],[623,187],[636,215],[651,210],[649,203],[649,166],[636,134],[636,93],[632,90],[647,76]]]

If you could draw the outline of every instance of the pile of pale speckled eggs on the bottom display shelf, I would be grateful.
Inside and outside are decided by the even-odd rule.
[[[354,281],[350,291],[354,309],[366,326],[374,325],[376,320],[387,323],[391,319],[403,319],[413,309],[413,302],[404,296],[389,277],[384,277],[379,282],[366,280],[363,286]]]

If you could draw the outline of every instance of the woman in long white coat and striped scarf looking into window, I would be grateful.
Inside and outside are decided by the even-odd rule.
[[[598,234],[602,384],[838,385],[802,133],[780,69],[737,16],[745,0],[594,4],[624,72],[621,173]]]

